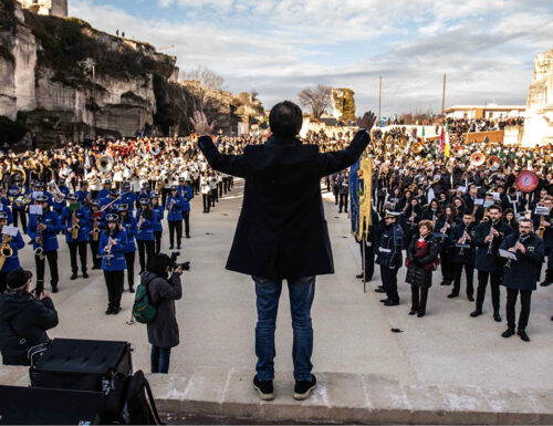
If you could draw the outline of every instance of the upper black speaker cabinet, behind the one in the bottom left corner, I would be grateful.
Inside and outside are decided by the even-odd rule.
[[[114,374],[133,374],[127,342],[54,339],[33,360],[32,387],[105,392]]]

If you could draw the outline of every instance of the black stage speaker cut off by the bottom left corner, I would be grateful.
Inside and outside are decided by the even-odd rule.
[[[101,392],[0,386],[0,425],[97,425]]]

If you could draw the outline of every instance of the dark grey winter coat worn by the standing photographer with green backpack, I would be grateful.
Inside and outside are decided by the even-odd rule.
[[[180,276],[174,273],[167,280],[154,272],[145,271],[140,276],[140,284],[148,288],[149,300],[157,308],[154,321],[147,325],[148,342],[164,349],[177,346],[179,335],[175,301],[182,298]]]

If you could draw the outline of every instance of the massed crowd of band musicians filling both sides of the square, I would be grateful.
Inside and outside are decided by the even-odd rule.
[[[461,127],[470,132],[480,124],[456,121],[450,126],[453,132]],[[490,124],[483,126],[480,128],[491,128]],[[353,131],[332,136],[309,133],[302,142],[328,153],[346,147],[353,136]],[[386,294],[385,306],[395,306],[400,303],[397,273],[405,266],[406,282],[411,285],[409,314],[419,318],[426,315],[432,276],[437,273],[441,274],[441,285],[451,285],[450,299],[460,295],[465,281],[466,295],[474,302],[470,313],[474,318],[483,312],[490,284],[493,319],[498,322],[502,321],[503,285],[508,329],[502,335],[518,333],[529,341],[531,294],[544,261],[541,285],[553,283],[552,147],[465,144],[459,133],[453,139],[458,145],[447,156],[439,139],[425,143],[405,127],[387,133],[376,128],[371,136],[367,154],[375,165],[372,224],[366,238],[358,241],[364,270],[357,278],[371,281],[378,264],[382,285],[375,291]],[[269,137],[259,133],[212,136],[222,154],[241,154],[247,146],[264,144]],[[165,227],[169,249],[179,250],[182,239],[190,238],[190,200],[201,195],[204,214],[209,214],[233,187],[230,174],[209,166],[196,135],[97,138],[86,147],[3,153],[0,160],[0,292],[40,303],[34,310],[49,326],[56,324],[58,316],[44,289],[45,263],[50,289],[58,292],[62,289],[58,251],[63,239],[70,253],[71,280],[86,279],[90,264],[93,270],[102,270],[106,314],[117,314],[125,278],[128,291],[135,291],[136,252],[138,272],[155,281],[155,274],[143,272],[152,272],[150,263],[161,276],[170,269],[170,261],[159,258]],[[523,172],[535,178],[530,190],[519,187]],[[344,214],[351,212],[349,198],[358,190],[349,186],[349,180],[347,170],[322,179]],[[34,252],[34,276],[20,267],[18,252],[25,245],[32,245]],[[167,292],[178,299],[180,280],[167,280],[175,282]],[[30,291],[32,283],[34,292]],[[517,322],[519,294],[521,313]],[[44,339],[41,333],[33,335],[38,341]],[[168,370],[170,351],[165,346],[159,343],[155,356],[153,352],[160,371]]]

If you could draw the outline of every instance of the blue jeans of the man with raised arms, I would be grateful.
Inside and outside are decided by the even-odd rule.
[[[255,326],[255,371],[260,381],[274,378],[274,331],[276,329],[276,312],[282,290],[282,280],[252,277],[255,282],[258,306],[258,325]],[[311,323],[311,305],[315,295],[315,277],[288,279],[290,292],[290,311],[294,344],[292,359],[294,361],[294,378],[311,381],[311,355],[313,353],[313,326]]]

